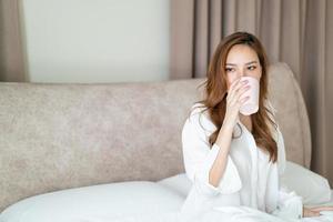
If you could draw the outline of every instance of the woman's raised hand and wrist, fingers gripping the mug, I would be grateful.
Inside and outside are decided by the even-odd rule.
[[[248,85],[248,80],[242,80],[238,78],[229,88],[226,95],[226,110],[223,120],[223,127],[233,129],[238,118],[241,105],[249,99],[249,97],[242,98],[242,94],[250,89]]]

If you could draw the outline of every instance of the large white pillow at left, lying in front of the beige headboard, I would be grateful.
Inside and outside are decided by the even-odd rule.
[[[114,221],[179,211],[183,199],[154,182],[132,181],[62,190],[19,201],[1,222]]]

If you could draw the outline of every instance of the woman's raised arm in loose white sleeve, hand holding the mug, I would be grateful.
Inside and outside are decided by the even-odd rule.
[[[248,99],[240,100],[240,95],[248,89],[241,81],[235,81],[230,87],[225,117],[211,149],[208,137],[200,124],[200,112],[191,113],[183,127],[182,147],[185,171],[199,193],[226,194],[233,193],[242,186],[229,151],[240,107]],[[222,178],[223,180],[221,180]]]

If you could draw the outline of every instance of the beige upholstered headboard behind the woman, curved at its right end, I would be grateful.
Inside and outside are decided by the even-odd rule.
[[[183,172],[181,130],[203,80],[0,83],[0,212],[50,191]],[[287,159],[309,168],[309,120],[286,64],[271,67],[270,83]]]

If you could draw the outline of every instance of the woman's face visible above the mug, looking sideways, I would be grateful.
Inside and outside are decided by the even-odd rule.
[[[235,44],[228,53],[225,73],[229,85],[240,77],[253,77],[260,81],[262,69],[256,52],[246,44]]]

